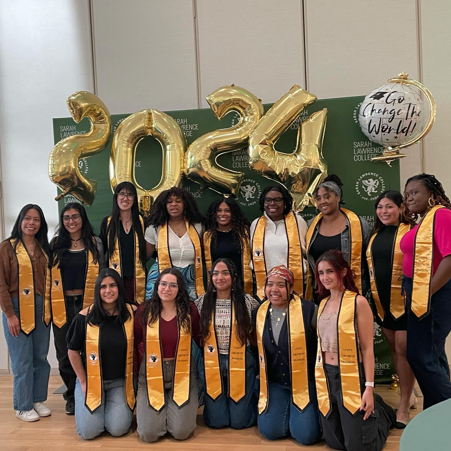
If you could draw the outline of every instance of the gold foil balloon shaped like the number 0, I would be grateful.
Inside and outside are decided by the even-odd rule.
[[[136,146],[145,136],[156,138],[163,148],[160,182],[146,190],[135,179]],[[121,182],[131,182],[138,192],[138,205],[144,216],[149,214],[153,200],[166,189],[179,186],[183,173],[186,139],[170,116],[158,110],[143,110],[124,119],[116,129],[111,144],[110,184],[113,191]]]

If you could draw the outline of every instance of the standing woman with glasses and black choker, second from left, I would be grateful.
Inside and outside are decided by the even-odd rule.
[[[53,337],[60,376],[66,386],[66,414],[73,415],[77,376],[67,355],[66,334],[77,313],[94,301],[94,285],[104,259],[101,239],[94,235],[83,205],[68,203],[61,210],[50,251]]]

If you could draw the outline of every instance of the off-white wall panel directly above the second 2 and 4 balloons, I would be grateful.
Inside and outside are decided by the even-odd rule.
[[[197,0],[200,92],[235,83],[263,103],[305,86],[300,0]]]

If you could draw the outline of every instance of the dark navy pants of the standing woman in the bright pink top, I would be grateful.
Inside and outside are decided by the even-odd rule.
[[[422,319],[412,312],[412,279],[404,278],[407,309],[407,360],[423,393],[423,410],[451,398],[450,367],[445,353],[451,331],[451,281],[431,298]]]

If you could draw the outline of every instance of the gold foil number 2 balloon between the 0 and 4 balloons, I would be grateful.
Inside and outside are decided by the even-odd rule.
[[[216,160],[223,153],[247,146],[249,134],[262,117],[262,101],[235,85],[220,87],[206,99],[218,120],[232,110],[238,111],[241,118],[229,129],[215,130],[193,141],[186,153],[185,174],[202,188],[236,197],[244,173],[226,169]]]

